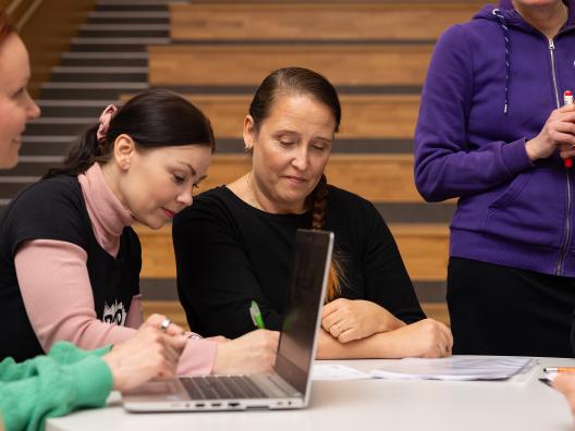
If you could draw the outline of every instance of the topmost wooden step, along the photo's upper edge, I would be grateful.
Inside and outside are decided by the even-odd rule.
[[[469,21],[476,3],[201,4],[170,5],[173,40],[427,40]]]

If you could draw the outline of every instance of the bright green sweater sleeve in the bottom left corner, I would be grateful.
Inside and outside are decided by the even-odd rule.
[[[112,375],[100,356],[109,348],[86,353],[59,343],[48,356],[0,362],[0,412],[7,431],[41,430],[46,418],[102,407]]]

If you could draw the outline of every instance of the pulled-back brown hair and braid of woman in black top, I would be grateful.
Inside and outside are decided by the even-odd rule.
[[[249,115],[254,128],[259,131],[261,122],[269,115],[273,102],[283,95],[309,96],[330,109],[335,120],[335,132],[340,130],[341,104],[333,85],[317,72],[304,67],[278,69],[270,73],[259,85],[249,106]],[[322,174],[316,188],[308,196],[311,208],[311,227],[316,231],[326,226],[328,205],[328,180]],[[328,300],[335,299],[341,292],[343,272],[340,259],[333,258],[330,268]]]

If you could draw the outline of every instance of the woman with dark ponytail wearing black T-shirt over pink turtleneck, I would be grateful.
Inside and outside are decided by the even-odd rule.
[[[0,358],[25,360],[60,340],[91,349],[134,337],[142,256],[131,225],[159,229],[189,206],[213,148],[201,111],[148,90],[108,107],[63,167],[21,192],[0,216],[0,325],[10,328]],[[199,338],[185,341],[178,373],[268,370],[278,334]]]

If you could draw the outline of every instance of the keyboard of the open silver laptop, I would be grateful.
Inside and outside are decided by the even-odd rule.
[[[247,375],[180,378],[192,399],[268,398]]]

